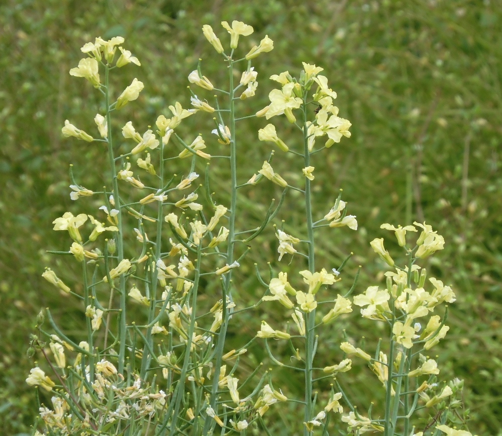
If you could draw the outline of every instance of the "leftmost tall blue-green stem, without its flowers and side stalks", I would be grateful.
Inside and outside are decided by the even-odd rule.
[[[113,153],[112,141],[112,115],[110,111],[110,87],[109,87],[110,68],[105,65],[105,104],[107,107],[107,125],[108,125],[108,159],[110,161],[110,171],[112,172],[113,197],[119,213],[117,214],[117,261],[120,263],[124,259],[124,236],[122,233],[122,207],[120,205],[119,185],[117,183],[117,169],[115,167],[115,158]],[[113,286],[113,283],[110,283]],[[124,274],[119,279],[120,295],[120,315],[119,315],[119,374],[124,375],[124,362],[126,357],[126,279]]]

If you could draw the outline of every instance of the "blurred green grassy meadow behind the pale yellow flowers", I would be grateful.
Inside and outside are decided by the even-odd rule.
[[[225,74],[221,63],[212,63],[217,57],[200,29],[211,24],[223,37],[219,23],[234,19],[255,29],[240,44],[252,46],[265,34],[274,41],[274,50],[254,63],[259,86],[249,113],[266,104],[274,87],[267,79],[271,74],[289,70],[297,75],[305,61],[325,68],[323,74],[338,92],[340,115],[353,124],[351,139],[344,138],[322,157],[316,156],[315,201],[324,211],[343,188],[359,230],[323,238],[320,266],[339,265],[354,252],[347,276],[363,266],[356,291],[362,292],[381,281],[385,270],[369,249],[373,238],[388,235],[379,230],[381,223],[432,224],[446,246],[427,265],[429,275],[451,284],[457,294],[448,319],[451,330],[440,350],[441,378],[465,379],[464,400],[473,433],[502,434],[502,3],[489,0],[4,0],[0,4],[2,434],[30,432],[37,413],[34,389],[24,380],[33,367],[26,349],[40,308],[53,308],[66,331],[78,332],[83,325],[76,302],[62,299],[41,278],[44,267],[51,266],[63,280],[73,280],[64,258],[45,253],[67,249],[67,241],[60,242],[51,222],[64,211],[78,211],[69,199],[68,164],[74,164],[80,184],[91,189],[102,186],[103,175],[93,172],[103,160],[102,150],[65,141],[60,134],[65,119],[81,129],[95,129],[98,93],[68,74],[82,57],[80,47],[96,36],[126,38],[125,47],[142,66],[121,71],[119,82],[125,86],[138,77],[145,90],[138,104],[128,108],[124,121],[153,125],[160,113],[168,114],[167,106],[174,101],[188,106],[186,76],[199,57],[207,59],[204,73],[213,82]],[[192,123],[205,123],[202,120]],[[212,128],[207,120],[207,126],[187,123],[184,129],[206,132]],[[255,162],[253,168],[258,169],[269,153],[266,144],[253,139],[263,121],[242,125],[240,137],[250,138],[239,157],[247,165],[245,171],[250,171],[242,174],[245,180],[253,172],[247,162]],[[286,122],[274,124],[287,144],[298,141]],[[289,166],[288,159],[274,158],[274,169],[291,180]],[[224,190],[223,183],[215,183],[213,189]],[[266,204],[269,190],[269,185],[258,185],[254,201],[265,196]],[[242,204],[248,208],[242,219],[256,226],[262,210],[252,202]],[[280,218],[286,230],[302,221],[294,197]],[[276,257],[272,231],[259,244]],[[350,285],[349,281],[344,283]],[[256,301],[263,291],[253,278],[240,288],[243,302]],[[267,316],[263,306],[260,311],[254,314],[258,326],[258,315]],[[349,319],[343,325],[349,335],[365,335],[370,343],[366,324]],[[333,329],[337,330],[333,336],[341,338],[340,326]],[[333,353],[339,353],[335,345]],[[258,354],[254,357],[257,362],[261,359]],[[333,364],[329,355],[325,358]],[[354,373],[350,389],[361,407],[373,398],[357,386],[371,384],[378,386],[369,372]],[[282,419],[288,419],[287,413]]]

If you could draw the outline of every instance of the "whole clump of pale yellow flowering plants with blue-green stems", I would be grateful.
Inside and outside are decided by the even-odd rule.
[[[222,26],[230,34],[230,48],[224,46],[211,26],[204,26],[203,32],[228,66],[228,87],[215,85],[216,80],[203,74],[199,62],[188,81],[201,88],[200,92],[216,93],[214,103],[191,90],[192,107],[183,108],[179,102],[170,105],[170,114],[157,117],[155,130],[141,134],[131,121],[127,122],[121,132],[128,144],[126,153],[118,151],[116,141],[120,135],[114,131],[112,119],[117,111],[134,104],[144,85],[134,78],[115,98],[110,76],[114,69],[128,64],[140,66],[138,58],[122,47],[124,38],[96,38],[81,48],[87,57],[70,70],[71,75],[85,78],[101,92],[105,113],[94,118],[99,137],[69,121],[62,133],[103,143],[112,177],[103,190],[94,191],[77,184],[71,174],[71,198],[81,201],[81,197],[98,197],[101,205],[93,214],[74,216],[66,212],[53,222],[54,230],[68,232],[71,246],[59,254],[73,256],[80,265],[82,291],[63,283],[51,269],[43,277],[81,300],[86,336],[75,339],[66,334],[48,309],[39,316],[39,334],[33,337],[31,353],[38,350],[54,375],[46,376],[37,366],[27,378],[29,384],[53,394],[50,404],[40,408],[43,427],[37,434],[246,434],[248,427],[269,433],[265,414],[270,413],[271,406],[279,406],[274,404],[286,402],[302,407],[303,418],[292,424],[290,431],[299,425],[304,434],[313,434],[318,428],[327,434],[332,414],[341,414],[336,425],[345,434],[454,434],[457,430],[449,425],[456,421],[449,410],[458,406],[455,394],[461,383],[436,384],[438,365],[426,353],[448,331],[446,316],[431,314],[441,304],[455,301],[455,296],[434,278],[429,279],[434,289],[426,291],[427,274],[416,265],[419,259],[442,249],[443,238],[431,226],[415,223],[422,233],[412,248],[408,247],[406,232],[417,232],[416,227],[396,229],[383,225],[395,232],[398,244],[406,250],[407,264],[396,266],[384,249],[383,239],[375,239],[371,243],[375,252],[395,268],[386,273],[386,289],[370,286],[351,302],[354,283],[336,298],[323,299],[325,293],[321,290],[333,289],[341,280],[347,260],[330,271],[320,268],[316,264],[315,234],[320,229],[340,227],[357,230],[357,220],[347,214],[347,202],[340,193],[331,209],[322,211],[324,217],[315,221],[314,158],[343,137],[349,138],[351,123],[339,117],[334,105],[337,94],[321,74],[321,67],[303,63],[299,77],[288,71],[272,75],[278,87],[270,91],[270,104],[256,117],[270,120],[284,115],[301,140],[286,144],[273,124],[260,129],[257,138],[298,159],[302,169],[295,181],[300,182],[288,181],[286,175],[274,170],[273,150],[262,164],[256,165],[251,179],[240,180],[236,125],[249,117],[238,116],[239,104],[252,98],[257,90],[258,72],[251,60],[271,51],[273,42],[265,36],[259,45],[239,57],[236,50],[240,37],[251,35],[253,28],[239,21],[232,25],[223,22]],[[239,76],[239,83],[235,83]],[[222,101],[227,102],[226,107]],[[311,103],[316,103],[319,110],[311,111]],[[183,138],[178,134],[183,120],[203,113],[216,116],[213,136]],[[223,154],[215,154],[214,150],[221,146]],[[181,177],[168,172],[170,161],[183,159],[190,165]],[[200,162],[210,160],[221,161],[230,169],[228,204],[219,204],[211,194],[209,166],[204,180],[206,198],[194,183],[199,178]],[[282,190],[281,198],[272,203],[258,228],[241,228],[238,192],[251,190],[259,182],[277,185]],[[305,200],[305,228],[293,229],[295,235],[286,233],[283,226],[275,228],[278,261],[299,257],[305,262],[304,269],[289,276],[286,271],[271,271],[270,278],[265,279],[264,265],[257,265],[264,295],[252,306],[241,307],[234,271],[247,262],[248,245],[274,222],[289,192]],[[137,226],[134,232],[129,231],[131,220]],[[263,259],[263,263],[267,260]],[[205,292],[210,287],[218,289],[216,297]],[[240,313],[262,302],[285,310],[297,332],[289,327],[284,331],[281,325],[275,330],[261,320],[260,330],[249,343],[229,350],[227,339],[232,323]],[[363,317],[385,323],[388,341],[378,343],[375,357],[371,357],[347,337],[340,345],[341,362],[317,367],[317,331],[352,312],[352,305],[362,307]],[[53,333],[44,329],[45,318]],[[293,350],[291,360],[297,364],[281,362],[268,344],[270,338],[288,341]],[[50,352],[45,348],[46,341]],[[272,363],[303,375],[303,398],[288,398],[274,386],[273,371],[262,371],[260,365],[247,373],[242,370],[241,359],[246,358],[252,344],[261,341]],[[379,407],[379,417],[373,417],[371,408],[367,416],[360,414],[346,394],[343,380],[337,378],[338,373],[351,369],[352,356],[367,362],[382,383],[385,402]],[[423,376],[427,379],[415,383]],[[350,373],[344,377],[348,380]],[[321,401],[314,388],[327,378],[333,383],[327,400],[319,407]],[[434,418],[427,420],[425,409],[431,409]],[[418,411],[421,414],[415,420]]]

